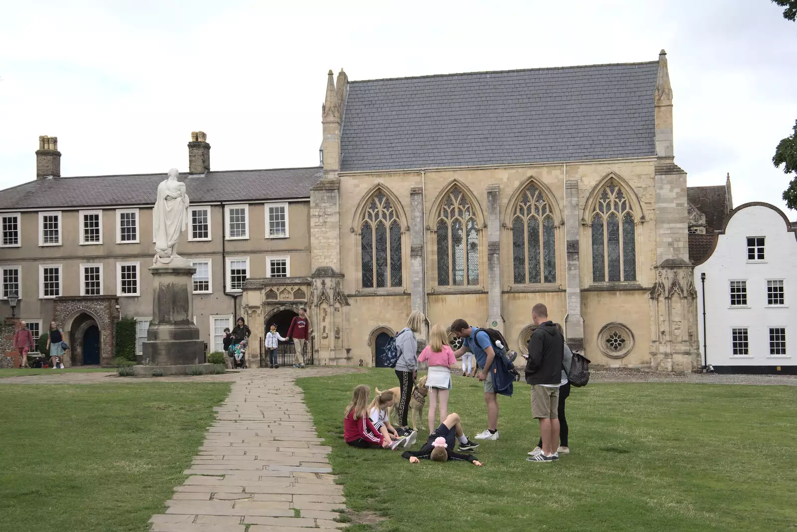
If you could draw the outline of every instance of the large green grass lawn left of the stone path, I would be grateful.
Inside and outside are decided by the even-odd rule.
[[[0,529],[150,529],[230,383],[0,386]]]

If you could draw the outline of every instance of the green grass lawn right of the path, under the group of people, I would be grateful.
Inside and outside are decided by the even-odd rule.
[[[484,467],[360,450],[343,440],[358,384],[398,385],[392,370],[299,381],[347,507],[387,517],[362,530],[792,530],[797,526],[797,387],[591,384],[567,400],[571,455],[530,464],[539,429],[530,388],[501,397],[501,440]],[[427,404],[428,408],[428,404]],[[481,383],[454,377],[449,412],[486,428]],[[426,417],[426,411],[424,412]],[[418,427],[421,428],[420,426]],[[426,421],[413,450],[426,441]]]

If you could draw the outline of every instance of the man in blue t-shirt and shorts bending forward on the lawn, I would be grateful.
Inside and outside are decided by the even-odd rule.
[[[493,385],[493,343],[485,331],[478,327],[470,327],[464,319],[455,319],[451,324],[451,333],[462,338],[462,346],[454,352],[454,357],[462,358],[468,352],[476,356],[476,363],[481,368],[479,380],[485,383],[485,403],[487,404],[487,430],[474,436],[476,440],[498,439],[498,398],[495,385]]]

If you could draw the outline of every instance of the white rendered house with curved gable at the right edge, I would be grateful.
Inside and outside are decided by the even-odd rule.
[[[695,265],[701,350],[718,373],[797,374],[797,229],[768,203],[728,213]]]

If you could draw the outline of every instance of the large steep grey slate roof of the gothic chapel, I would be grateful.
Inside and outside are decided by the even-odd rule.
[[[656,154],[658,61],[351,81],[341,170]]]

